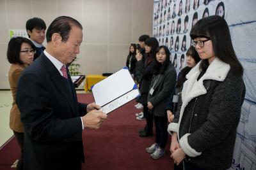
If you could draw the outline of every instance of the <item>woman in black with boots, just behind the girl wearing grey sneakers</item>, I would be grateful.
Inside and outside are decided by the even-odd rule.
[[[148,38],[145,41],[145,63],[141,71],[141,81],[140,81],[140,93],[141,96],[138,102],[143,104],[143,115],[147,120],[147,125],[144,129],[140,131],[140,137],[147,137],[153,135],[153,117],[147,108],[147,98],[150,87],[150,82],[152,80],[153,71],[153,61],[156,59],[156,48],[159,46],[156,38]]]

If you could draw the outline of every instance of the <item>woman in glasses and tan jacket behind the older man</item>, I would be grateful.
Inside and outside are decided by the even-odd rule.
[[[12,91],[12,108],[10,111],[10,128],[20,146],[20,159],[17,169],[23,169],[23,143],[24,143],[24,127],[20,122],[20,111],[15,103],[17,84],[20,74],[29,64],[33,62],[35,54],[35,46],[27,38],[15,37],[10,39],[8,43],[7,59],[10,62],[10,70],[8,73],[10,89]]]

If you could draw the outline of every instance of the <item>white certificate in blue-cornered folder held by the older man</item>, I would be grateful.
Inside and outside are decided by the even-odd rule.
[[[95,103],[107,114],[140,96],[140,91],[126,67],[96,83],[92,87],[92,93]]]

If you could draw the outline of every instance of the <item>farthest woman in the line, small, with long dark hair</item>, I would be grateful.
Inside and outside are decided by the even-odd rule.
[[[135,44],[131,44],[130,48],[129,48],[129,54],[127,56],[127,60],[126,60],[126,66],[129,68],[129,71],[131,74],[134,74],[134,69],[136,66],[136,45]]]

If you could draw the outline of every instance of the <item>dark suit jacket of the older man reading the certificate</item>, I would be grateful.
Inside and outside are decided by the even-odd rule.
[[[24,124],[24,168],[79,169],[84,162],[81,116],[77,103],[52,62],[44,55],[20,76],[16,102]]]

